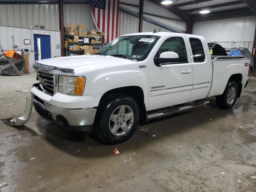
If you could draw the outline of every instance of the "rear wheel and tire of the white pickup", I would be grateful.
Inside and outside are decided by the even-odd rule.
[[[237,83],[232,81],[228,82],[224,93],[216,97],[216,103],[220,109],[230,109],[236,103],[238,96]]]

